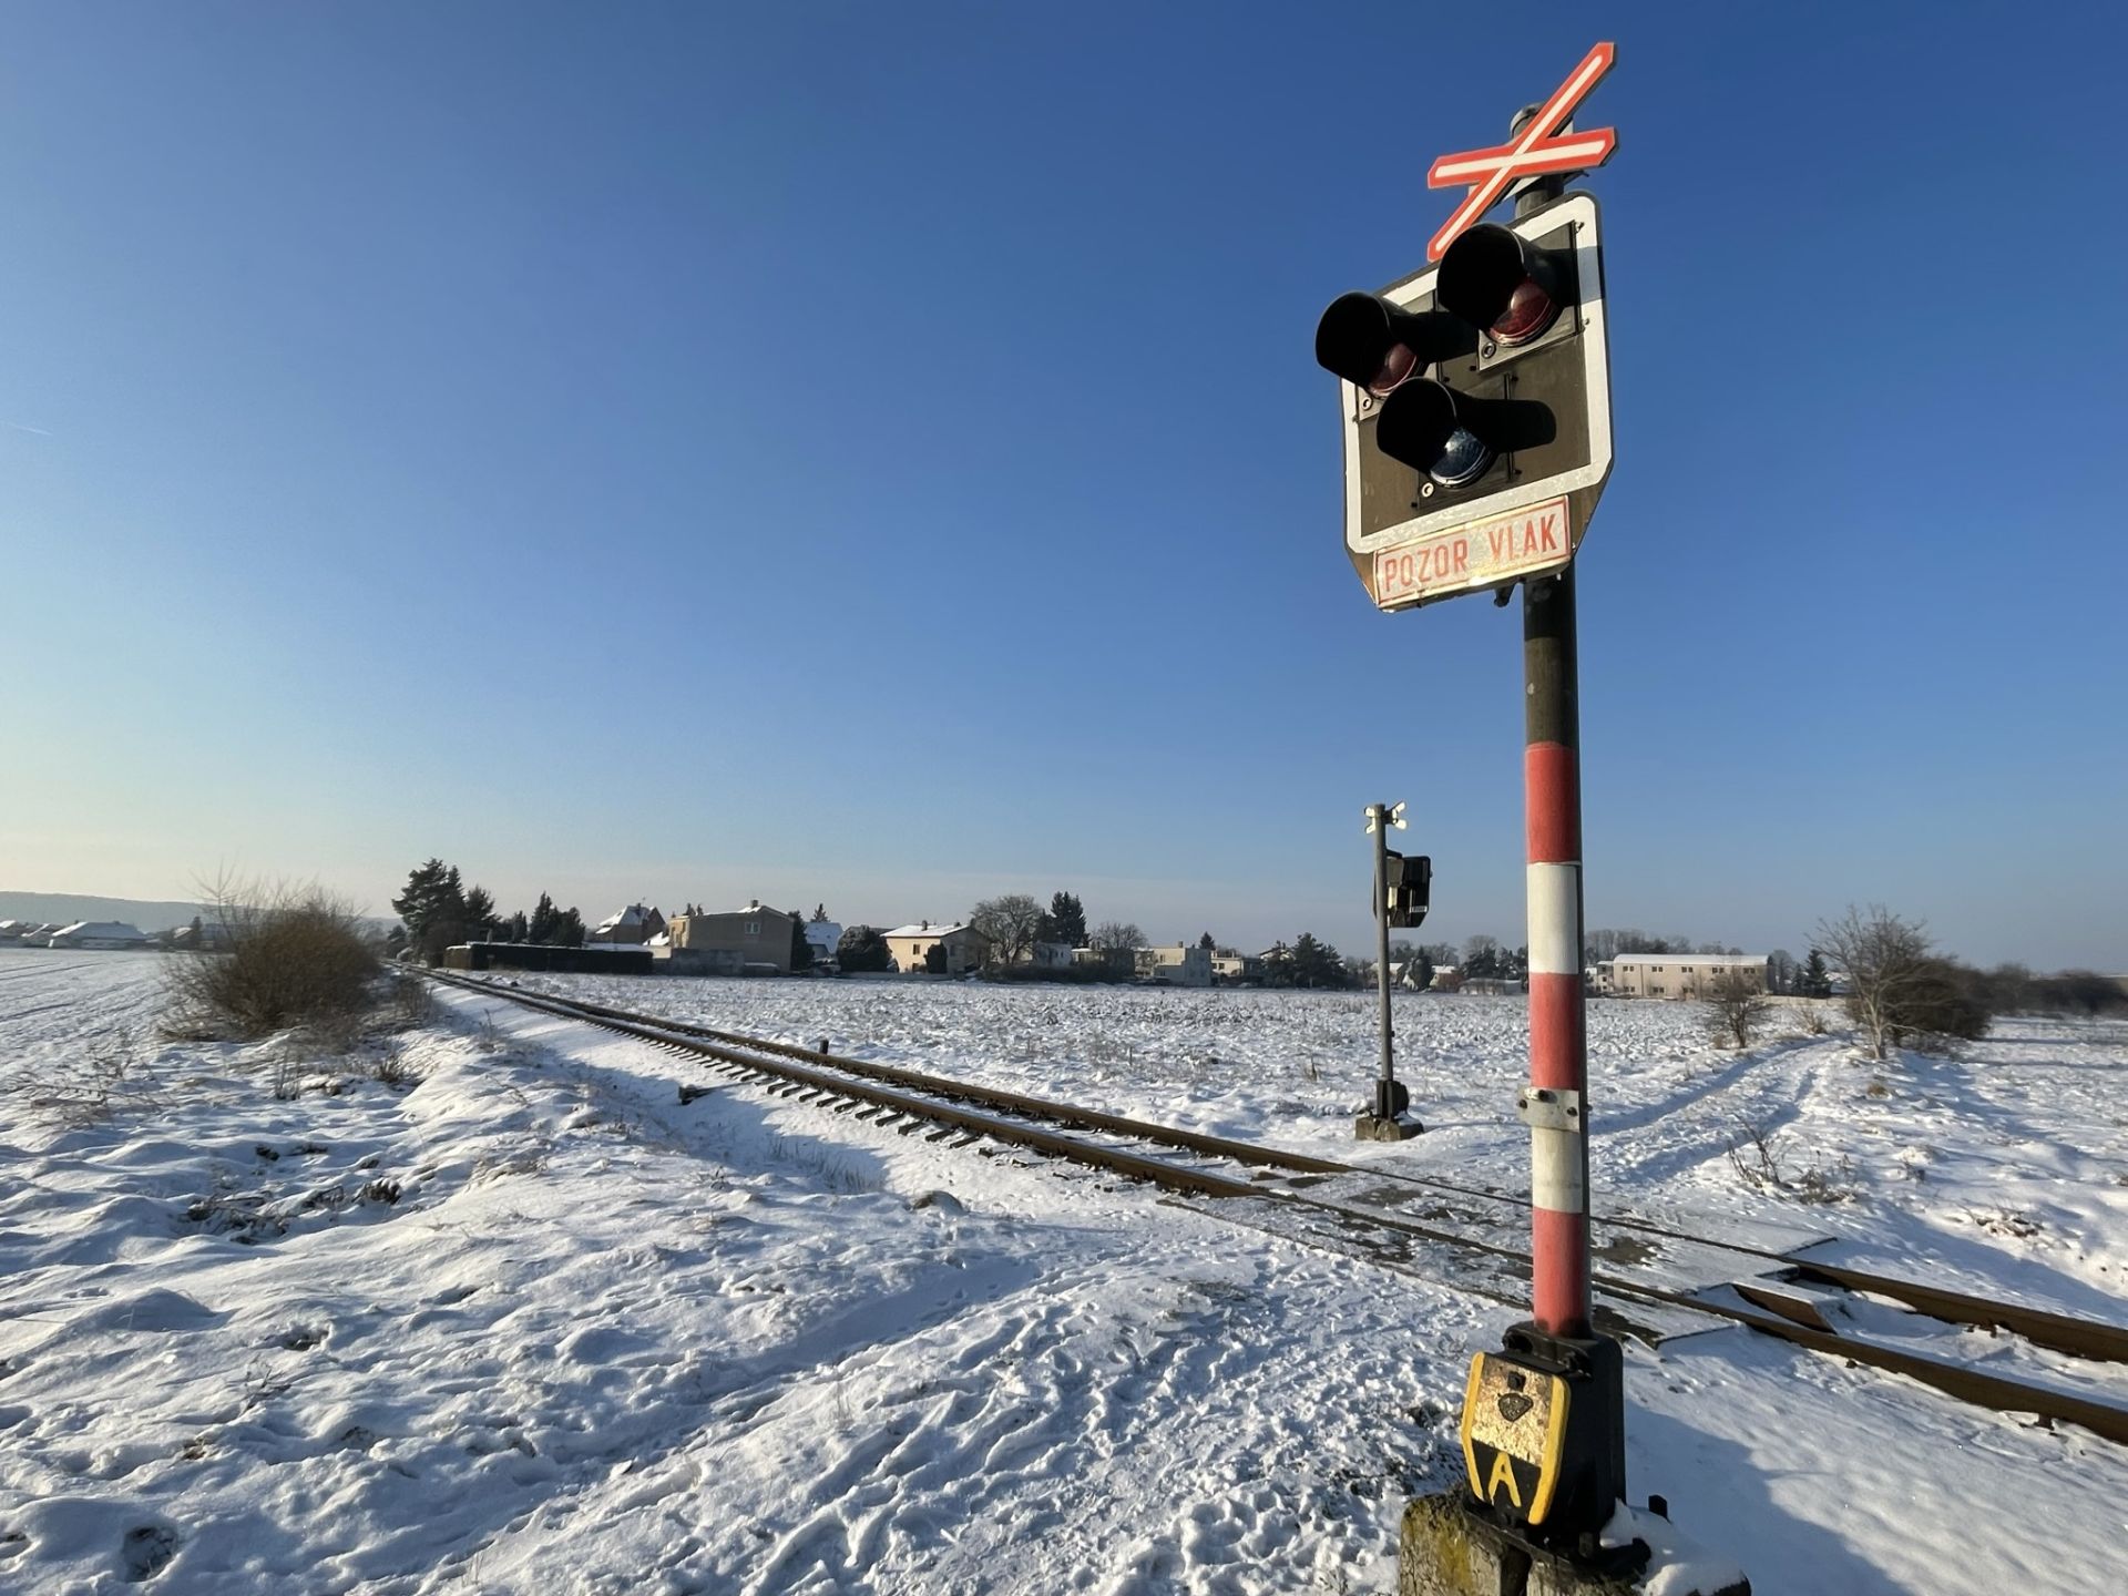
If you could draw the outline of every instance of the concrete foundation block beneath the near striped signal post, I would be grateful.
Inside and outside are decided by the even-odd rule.
[[[1732,1564],[1685,1541],[1666,1519],[1619,1507],[1605,1545],[1649,1547],[1634,1573],[1598,1573],[1532,1547],[1473,1511],[1468,1492],[1417,1496],[1404,1504],[1396,1549],[1396,1596],[1751,1596]]]

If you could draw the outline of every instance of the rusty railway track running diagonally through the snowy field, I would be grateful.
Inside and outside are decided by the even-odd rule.
[[[1530,1253],[1504,1241],[1528,1226],[1528,1198],[1483,1185],[1207,1136],[894,1064],[841,1058],[743,1032],[498,985],[430,979],[600,1026],[704,1060],[781,1096],[832,1104],[934,1141],[1019,1147],[1151,1183],[1168,1200],[1302,1245],[1360,1258],[1502,1304],[1528,1307]],[[1749,1238],[1711,1236],[1639,1215],[1592,1224],[1594,1317],[1649,1345],[1739,1324],[1811,1351],[1905,1375],[1962,1402],[2077,1424],[2128,1445],[2128,1404],[2107,1364],[2128,1364],[2128,1328],[1954,1292],[1875,1270],[1796,1258]],[[1917,1326],[2013,1339],[2024,1373],[1979,1368],[1913,1341]],[[2005,1362],[1998,1336],[1983,1356]]]

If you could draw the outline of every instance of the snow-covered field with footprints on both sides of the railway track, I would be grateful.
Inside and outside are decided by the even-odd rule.
[[[1515,1000],[1400,1000],[1430,1130],[1362,1149],[1368,998],[547,985],[1524,1177]],[[751,1087],[681,1104],[685,1060],[481,996],[326,1055],[157,1007],[153,955],[0,953],[0,1590],[1387,1592],[1513,1317]],[[1594,1004],[1598,1207],[2128,1317],[2122,1026],[1885,1066],[1781,1030]],[[1760,1592],[2122,1583],[2128,1451],[2090,1434],[1745,1332],[1630,1347],[1628,1398],[1634,1494]]]

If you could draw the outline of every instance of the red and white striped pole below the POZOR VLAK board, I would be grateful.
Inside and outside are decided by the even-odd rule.
[[[1530,894],[1532,1319],[1590,1334],[1587,1007],[1581,983],[1581,709],[1575,570],[1522,585]]]

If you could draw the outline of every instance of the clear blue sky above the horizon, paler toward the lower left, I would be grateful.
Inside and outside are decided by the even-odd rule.
[[[1519,609],[1375,613],[1311,343],[1615,38],[1590,924],[2128,968],[2122,17],[11,6],[0,887],[1360,951],[1402,798],[1522,943]]]

